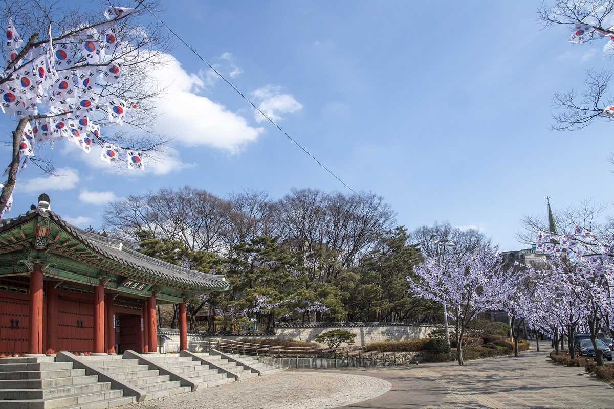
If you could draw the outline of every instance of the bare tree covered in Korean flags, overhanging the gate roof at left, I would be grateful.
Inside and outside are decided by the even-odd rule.
[[[164,150],[168,138],[151,128],[161,92],[152,72],[165,63],[169,40],[143,18],[157,12],[157,4],[101,4],[91,12],[34,0],[4,6],[0,108],[17,123],[8,143],[2,212],[28,161],[55,173],[45,149],[56,140],[85,153],[99,145],[101,159],[118,169],[143,169],[144,157]]]

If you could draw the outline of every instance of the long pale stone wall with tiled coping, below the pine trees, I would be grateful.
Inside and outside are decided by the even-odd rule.
[[[426,338],[430,332],[443,326],[419,323],[278,323],[275,324],[275,335],[241,334],[232,336],[205,336],[188,331],[188,349],[203,351],[208,348],[209,339],[223,338],[226,340],[271,339],[278,338],[293,341],[315,342],[316,336],[331,329],[344,329],[356,334],[354,345],[364,346],[373,342],[402,341]],[[179,330],[160,328],[159,334],[166,335],[171,340],[166,341],[166,352],[179,352]],[[322,344],[324,346],[324,344]],[[158,337],[158,350],[161,339]]]

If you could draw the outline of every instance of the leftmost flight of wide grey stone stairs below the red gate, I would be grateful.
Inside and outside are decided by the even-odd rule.
[[[0,358],[0,409],[108,409],[136,402],[53,357]]]

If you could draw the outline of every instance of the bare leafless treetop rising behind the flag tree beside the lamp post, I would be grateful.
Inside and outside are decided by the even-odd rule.
[[[461,230],[459,227],[452,227],[447,220],[441,223],[435,221],[432,226],[425,224],[417,227],[411,233],[411,237],[418,243],[426,257],[436,257],[439,254],[437,243],[430,240],[448,239],[449,243],[454,243],[454,247],[446,251],[453,253],[457,258],[462,258],[467,253],[479,250],[488,242],[486,236],[478,229]]]

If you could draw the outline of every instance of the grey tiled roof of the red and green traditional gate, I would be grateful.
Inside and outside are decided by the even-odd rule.
[[[68,234],[72,235],[80,243],[83,243],[101,256],[119,262],[124,266],[132,267],[133,269],[157,277],[208,289],[223,289],[228,286],[227,281],[224,281],[222,275],[196,272],[146,256],[138,251],[123,247],[120,245],[122,243],[121,240],[103,237],[80,229],[79,227],[72,226],[72,224],[66,223],[66,221],[62,220],[62,218],[54,212],[45,212],[44,210],[35,209],[23,215],[19,215],[16,218],[0,220],[0,233],[12,229],[19,224],[26,223],[37,216],[50,217],[54,223],[61,226],[64,231],[68,232]]]

